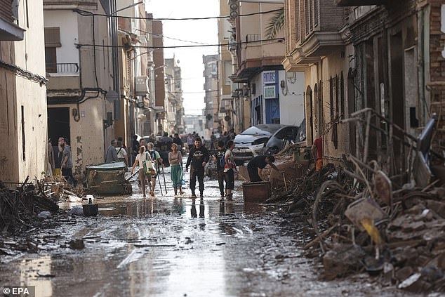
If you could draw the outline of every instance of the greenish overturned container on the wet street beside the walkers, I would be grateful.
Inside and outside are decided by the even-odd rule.
[[[122,161],[86,166],[86,187],[97,194],[131,194]]]

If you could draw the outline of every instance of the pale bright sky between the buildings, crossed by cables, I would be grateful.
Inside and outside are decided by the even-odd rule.
[[[218,0],[145,0],[145,10],[153,18],[206,18],[219,15]],[[194,43],[218,44],[218,21],[163,20],[164,46],[184,46]],[[178,41],[193,41],[194,43]],[[204,64],[202,55],[218,53],[218,46],[196,48],[165,48],[164,58],[179,60],[184,92],[185,114],[202,114],[204,105]]]

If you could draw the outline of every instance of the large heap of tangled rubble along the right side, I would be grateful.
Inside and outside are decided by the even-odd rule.
[[[429,145],[421,141],[425,160]],[[416,145],[411,150],[416,152]],[[276,160],[292,163],[288,156]],[[410,164],[405,172],[391,169],[390,176],[376,160],[347,155],[319,172],[307,169],[286,178],[287,187],[281,182],[265,203],[312,227],[304,249],[322,259],[325,279],[366,271],[399,289],[444,292],[445,187],[430,175],[418,183],[422,177],[413,168],[418,163]],[[287,168],[298,166],[303,164]],[[428,166],[423,161],[423,169]],[[274,171],[270,178],[279,179]]]

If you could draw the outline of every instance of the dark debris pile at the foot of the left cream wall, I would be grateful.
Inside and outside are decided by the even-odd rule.
[[[30,227],[37,213],[58,211],[58,205],[46,197],[44,187],[28,183],[27,178],[19,187],[11,190],[0,181],[0,232],[20,232]]]

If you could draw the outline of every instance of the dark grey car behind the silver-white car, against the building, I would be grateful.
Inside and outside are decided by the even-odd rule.
[[[300,126],[284,126],[270,136],[264,149],[264,154],[277,154],[291,143],[300,143],[306,140],[306,121],[303,119]]]

